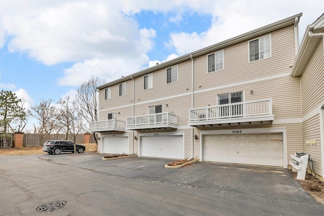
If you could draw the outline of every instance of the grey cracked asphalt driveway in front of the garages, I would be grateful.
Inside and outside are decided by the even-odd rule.
[[[283,168],[102,156],[0,156],[0,215],[324,215]]]

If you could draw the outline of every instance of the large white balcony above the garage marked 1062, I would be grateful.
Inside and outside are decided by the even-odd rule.
[[[222,126],[272,123],[272,98],[193,108],[189,126]]]

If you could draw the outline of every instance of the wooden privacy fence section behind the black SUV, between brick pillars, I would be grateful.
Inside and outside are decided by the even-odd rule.
[[[74,135],[68,135],[67,140],[74,141]],[[24,134],[23,135],[23,147],[37,147],[43,146],[48,140],[65,140],[65,134]],[[85,143],[85,135],[76,135],[75,143]],[[95,139],[90,136],[90,143],[96,143]]]

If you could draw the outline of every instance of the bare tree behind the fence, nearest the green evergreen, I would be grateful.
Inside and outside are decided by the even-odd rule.
[[[53,100],[42,100],[38,105],[31,107],[35,112],[32,114],[38,120],[39,126],[34,125],[34,130],[39,134],[51,134],[58,132],[58,124],[56,120],[57,109],[53,105]]]

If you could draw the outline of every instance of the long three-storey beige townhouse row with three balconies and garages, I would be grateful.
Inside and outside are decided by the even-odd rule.
[[[290,154],[310,147],[305,125],[319,125],[302,117],[312,110],[310,90],[301,91],[308,75],[293,73],[305,70],[295,62],[301,16],[101,85],[100,120],[89,129],[98,151],[287,168]]]

